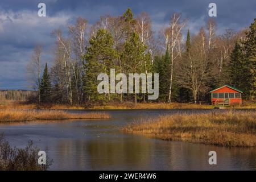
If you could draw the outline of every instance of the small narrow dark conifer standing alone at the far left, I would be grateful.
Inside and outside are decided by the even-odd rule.
[[[40,99],[41,102],[49,102],[51,97],[51,80],[48,73],[48,67],[44,68],[42,80],[40,82]]]

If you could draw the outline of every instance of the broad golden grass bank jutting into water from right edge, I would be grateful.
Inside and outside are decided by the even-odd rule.
[[[163,140],[182,140],[217,146],[256,146],[256,112],[227,111],[174,114],[135,121],[123,131]]]

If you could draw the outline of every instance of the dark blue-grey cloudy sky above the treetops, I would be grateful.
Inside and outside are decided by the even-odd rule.
[[[38,4],[46,3],[46,17],[38,16]],[[145,11],[152,19],[155,34],[167,24],[174,12],[188,19],[185,29],[192,33],[205,26],[208,5],[217,5],[217,34],[226,28],[235,31],[247,27],[256,18],[256,1],[243,0],[1,0],[0,1],[0,89],[29,89],[26,66],[33,48],[44,48],[43,60],[51,64],[54,39],[52,30],[64,29],[78,16],[89,24],[97,22],[101,15],[121,15],[127,7],[133,13]]]

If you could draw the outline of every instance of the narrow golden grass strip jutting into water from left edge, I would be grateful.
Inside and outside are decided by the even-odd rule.
[[[107,113],[68,113],[58,110],[0,110],[0,122],[34,121],[42,119],[105,119]]]

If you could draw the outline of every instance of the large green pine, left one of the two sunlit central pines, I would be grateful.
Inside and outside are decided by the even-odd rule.
[[[97,76],[100,73],[106,73],[110,76],[110,69],[116,68],[114,61],[117,59],[117,52],[113,48],[113,38],[109,32],[100,29],[89,43],[90,46],[86,48],[86,55],[84,56],[86,60],[83,78],[85,97],[89,101],[106,101],[105,95],[97,92],[97,85],[100,82],[97,80]]]

